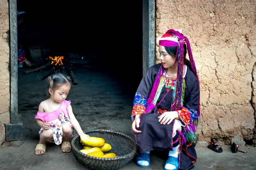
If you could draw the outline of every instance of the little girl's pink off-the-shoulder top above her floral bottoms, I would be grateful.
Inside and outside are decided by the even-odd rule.
[[[56,111],[52,112],[37,112],[35,119],[40,119],[43,122],[51,122],[56,119],[59,119],[59,113],[63,113],[64,116],[68,115],[68,106],[70,105],[70,100],[63,100],[60,104],[60,107]]]

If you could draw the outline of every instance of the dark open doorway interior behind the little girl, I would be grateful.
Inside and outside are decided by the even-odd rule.
[[[34,116],[45,100],[42,79],[55,67],[23,73],[44,65],[49,56],[64,55],[77,80],[66,100],[71,100],[81,127],[132,135],[130,115],[143,76],[142,1],[119,5],[116,1],[18,0],[17,9],[26,12],[18,35],[24,37],[32,64],[18,68],[18,111],[25,128],[32,129],[27,133],[39,141]],[[109,120],[117,123],[109,124]]]

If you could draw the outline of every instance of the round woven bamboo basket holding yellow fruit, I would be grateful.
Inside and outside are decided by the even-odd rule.
[[[80,136],[75,135],[71,141],[72,152],[76,160],[85,167],[93,170],[113,170],[118,169],[130,162],[137,151],[136,142],[130,136],[111,130],[97,129],[84,132],[93,137],[105,139],[105,143],[111,145],[111,150],[107,153],[115,153],[115,158],[98,158],[86,155],[79,150],[83,148]]]

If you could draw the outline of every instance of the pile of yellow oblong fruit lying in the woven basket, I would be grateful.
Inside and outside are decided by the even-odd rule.
[[[94,156],[99,158],[115,158],[116,154],[108,153],[104,154],[104,152],[108,152],[111,150],[111,145],[105,143],[105,139],[100,137],[88,137],[82,136],[81,142],[85,145],[80,152]]]

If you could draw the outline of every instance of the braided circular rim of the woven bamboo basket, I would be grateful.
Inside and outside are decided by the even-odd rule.
[[[79,137],[79,135],[75,135],[71,141],[71,146],[72,146],[72,152],[77,152],[79,155],[82,155],[86,158],[92,158],[92,159],[95,159],[95,160],[103,160],[103,161],[114,161],[114,160],[122,160],[122,159],[126,159],[126,158],[130,158],[133,154],[136,153],[137,151],[137,145],[136,145],[136,141],[130,137],[129,135],[126,135],[124,133],[121,133],[121,132],[117,132],[117,131],[113,131],[113,130],[107,130],[107,129],[95,129],[95,130],[90,130],[90,131],[84,131],[84,133],[91,133],[91,132],[102,132],[102,133],[112,133],[112,134],[118,134],[118,135],[122,135],[124,137],[127,137],[128,139],[130,139],[133,143],[134,143],[134,148],[133,148],[133,151],[127,155],[124,155],[124,156],[118,156],[118,157],[115,157],[115,158],[99,158],[99,157],[94,157],[94,156],[90,156],[90,155],[87,155],[87,154],[84,154],[82,152],[80,152],[74,145],[75,143],[75,140]]]

